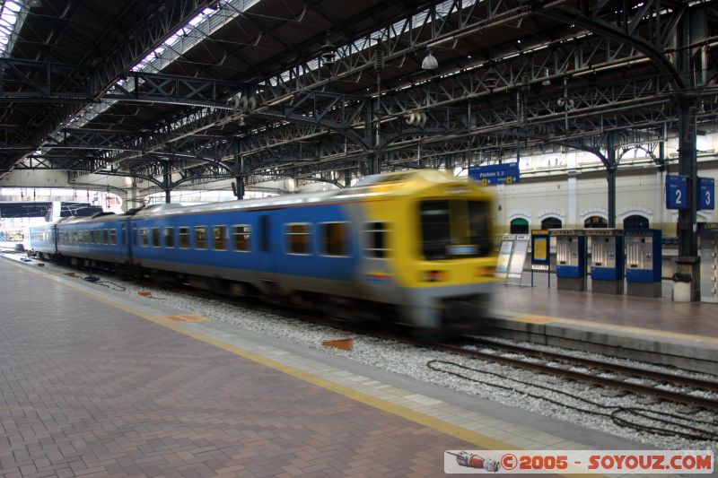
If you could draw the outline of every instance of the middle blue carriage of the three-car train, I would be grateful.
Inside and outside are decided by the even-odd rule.
[[[72,265],[127,265],[130,261],[126,214],[96,213],[57,222],[57,253]]]

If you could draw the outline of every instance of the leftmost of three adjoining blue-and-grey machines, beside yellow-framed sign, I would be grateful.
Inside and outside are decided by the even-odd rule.
[[[586,236],[582,229],[552,229],[556,238],[558,289],[586,290]]]

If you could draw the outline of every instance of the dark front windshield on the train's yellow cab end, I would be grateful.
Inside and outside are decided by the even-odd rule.
[[[488,256],[489,203],[484,201],[422,201],[421,253],[426,260]]]

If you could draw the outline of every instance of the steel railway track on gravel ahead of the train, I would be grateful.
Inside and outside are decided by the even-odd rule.
[[[486,361],[497,361],[521,369],[530,369],[554,376],[571,378],[583,383],[600,385],[602,387],[613,387],[640,395],[652,395],[664,400],[670,400],[671,402],[693,405],[707,410],[718,410],[718,400],[714,398],[690,395],[687,392],[679,392],[660,387],[661,385],[686,387],[691,391],[703,390],[718,394],[718,382],[653,370],[638,369],[605,361],[574,357],[573,355],[565,355],[562,353],[543,352],[519,345],[496,343],[475,337],[462,337],[460,343],[461,345],[439,343],[430,346],[445,352],[457,353]],[[496,352],[471,350],[466,348],[468,345],[480,348],[492,348]],[[511,356],[506,354],[511,354]],[[590,371],[577,370],[576,368],[578,367]],[[616,374],[617,377],[605,377],[607,372]],[[634,383],[630,381],[632,378],[652,382],[652,385]]]

